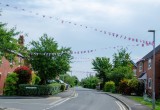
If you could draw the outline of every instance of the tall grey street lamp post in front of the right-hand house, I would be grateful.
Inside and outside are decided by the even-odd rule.
[[[148,30],[153,32],[153,83],[152,83],[152,108],[155,109],[155,30]]]

